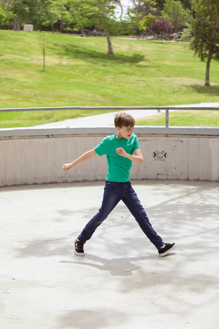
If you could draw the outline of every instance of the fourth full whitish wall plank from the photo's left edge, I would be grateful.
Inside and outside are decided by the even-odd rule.
[[[36,183],[46,183],[46,143],[45,138],[38,138],[35,141],[36,153]]]

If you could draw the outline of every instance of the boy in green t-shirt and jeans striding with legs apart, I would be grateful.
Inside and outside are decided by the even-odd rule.
[[[132,161],[142,164],[143,157],[137,136],[134,134],[135,119],[127,113],[118,113],[114,119],[117,133],[105,137],[94,149],[82,154],[70,164],[64,164],[67,171],[96,154],[106,155],[108,172],[104,187],[103,201],[97,215],[85,226],[75,241],[75,254],[84,256],[84,243],[91,238],[96,228],[107,218],[120,200],[135,217],[144,234],[158,249],[159,256],[165,256],[176,248],[176,243],[164,243],[152,228],[148,217],[131,186],[129,179]]]

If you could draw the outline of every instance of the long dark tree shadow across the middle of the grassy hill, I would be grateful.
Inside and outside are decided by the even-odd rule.
[[[54,44],[54,46],[50,46],[50,49],[59,48],[58,44]],[[130,62],[130,63],[138,63],[144,60],[144,55],[140,53],[133,53],[131,56],[117,53],[115,55],[108,55],[106,53],[101,53],[94,49],[82,48],[79,45],[65,45],[59,51],[58,55],[60,56],[68,56],[69,58],[78,58],[88,60],[92,63],[103,62]]]

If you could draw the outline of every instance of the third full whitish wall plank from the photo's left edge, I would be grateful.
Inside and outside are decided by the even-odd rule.
[[[26,184],[35,184],[36,183],[35,141],[36,141],[36,139],[25,139]]]

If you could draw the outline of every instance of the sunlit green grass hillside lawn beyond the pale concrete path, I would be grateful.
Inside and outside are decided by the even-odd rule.
[[[56,106],[168,106],[219,102],[219,64],[206,63],[187,44],[0,30],[0,108]],[[96,112],[97,113],[97,112]],[[0,127],[32,126],[91,111],[0,113]],[[95,113],[94,113],[95,114]]]

